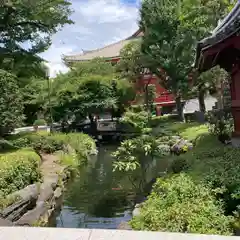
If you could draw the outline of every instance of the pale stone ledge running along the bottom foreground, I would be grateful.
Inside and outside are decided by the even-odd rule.
[[[0,240],[240,240],[240,237],[101,229],[1,227]]]

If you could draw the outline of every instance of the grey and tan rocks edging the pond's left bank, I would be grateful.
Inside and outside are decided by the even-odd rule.
[[[59,206],[64,183],[70,175],[67,168],[58,164],[56,167],[60,172],[52,171],[43,176],[42,183],[29,185],[10,195],[18,196],[20,200],[0,212],[0,226],[47,225],[52,213]]]

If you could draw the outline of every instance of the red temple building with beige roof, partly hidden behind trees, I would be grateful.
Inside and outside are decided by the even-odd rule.
[[[91,51],[84,51],[82,54],[75,54],[71,56],[64,56],[64,61],[67,62],[68,65],[79,61],[89,61],[94,58],[100,57],[106,59],[106,61],[111,61],[112,63],[116,63],[120,60],[120,51],[121,49],[129,44],[131,41],[137,40],[143,36],[143,33],[138,30],[132,36],[127,39],[121,40],[119,42],[110,44],[103,48],[99,48]],[[166,89],[164,89],[159,82],[157,81],[156,76],[146,72],[142,76],[142,81],[139,81],[144,87],[146,84],[154,85],[156,98],[154,99],[154,104],[156,106],[156,113],[160,115],[161,113],[169,113],[175,108],[175,100],[174,96],[169,93]],[[137,86],[136,86],[137,89]],[[139,86],[138,86],[139,89]],[[137,94],[142,94],[138,92]],[[134,103],[133,103],[134,104]]]

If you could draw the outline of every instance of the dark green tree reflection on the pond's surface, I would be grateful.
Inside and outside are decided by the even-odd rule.
[[[115,148],[116,149],[116,148]],[[112,217],[127,205],[127,188],[122,173],[112,172],[111,152],[115,149],[100,148],[96,161],[81,170],[80,176],[69,186],[65,205],[96,217]],[[126,186],[126,191],[112,188]]]

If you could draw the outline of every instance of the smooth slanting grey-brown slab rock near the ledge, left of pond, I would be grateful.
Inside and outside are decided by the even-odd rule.
[[[37,206],[33,209],[25,213],[16,223],[15,225],[24,226],[30,225],[33,226],[39,219],[44,216],[48,211],[47,204],[45,202],[39,202]]]

